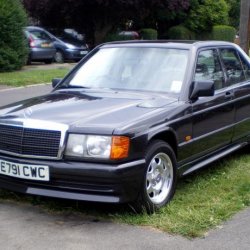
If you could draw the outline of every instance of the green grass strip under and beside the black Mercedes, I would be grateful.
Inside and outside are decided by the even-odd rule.
[[[149,226],[185,237],[204,235],[250,205],[250,155],[240,152],[181,179],[173,201],[153,215],[128,205],[104,205],[31,197],[0,190],[0,200],[28,202],[50,213],[75,213],[118,223]]]

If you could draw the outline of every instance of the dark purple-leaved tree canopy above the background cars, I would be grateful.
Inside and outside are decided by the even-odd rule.
[[[30,16],[43,26],[74,27],[93,36],[95,43],[128,19],[145,20],[157,9],[187,9],[189,0],[23,0]]]

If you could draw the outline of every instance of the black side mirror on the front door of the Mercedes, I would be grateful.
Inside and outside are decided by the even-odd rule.
[[[193,90],[190,95],[190,99],[198,99],[203,96],[214,95],[214,81],[195,81],[193,82]]]

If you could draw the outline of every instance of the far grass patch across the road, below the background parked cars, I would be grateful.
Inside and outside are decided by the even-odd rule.
[[[0,85],[20,87],[37,83],[49,83],[53,78],[62,78],[69,72],[67,68],[30,70],[0,73]]]

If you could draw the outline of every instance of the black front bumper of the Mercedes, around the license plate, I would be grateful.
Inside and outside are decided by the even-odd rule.
[[[120,165],[72,161],[20,159],[0,155],[17,164],[47,165],[50,181],[24,180],[0,174],[0,188],[55,198],[124,203],[137,198],[145,160]]]

